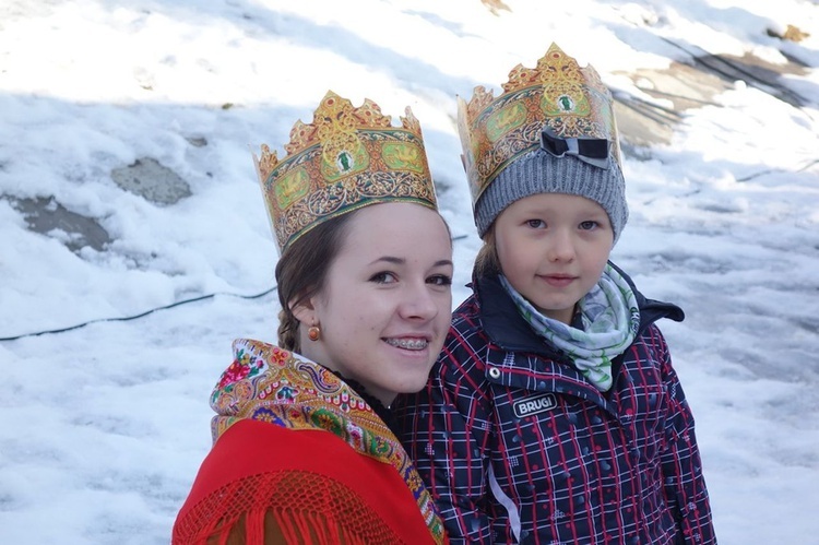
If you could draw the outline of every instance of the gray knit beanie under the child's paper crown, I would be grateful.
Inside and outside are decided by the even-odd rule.
[[[518,157],[489,183],[475,204],[475,225],[483,237],[498,214],[519,199],[535,193],[567,193],[596,202],[608,214],[614,241],[629,217],[626,181],[609,155],[608,168],[600,168],[571,155],[556,157],[538,147]]]

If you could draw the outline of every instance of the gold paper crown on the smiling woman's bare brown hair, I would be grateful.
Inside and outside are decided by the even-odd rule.
[[[265,144],[253,155],[280,254],[327,220],[379,202],[413,202],[437,210],[420,125],[407,107],[392,127],[377,104],[354,108],[329,91],[313,114],[290,130],[278,161]]]

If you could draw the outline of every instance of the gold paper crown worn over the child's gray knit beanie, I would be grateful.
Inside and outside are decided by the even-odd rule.
[[[535,69],[513,68],[499,97],[477,86],[468,104],[458,98],[473,206],[503,167],[541,145],[544,128],[562,139],[607,139],[620,163],[612,93],[594,68],[580,68],[554,43]]]

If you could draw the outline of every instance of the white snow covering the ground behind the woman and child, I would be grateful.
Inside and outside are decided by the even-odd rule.
[[[251,152],[282,150],[328,90],[356,106],[369,97],[395,122],[412,107],[458,237],[453,298],[466,297],[479,240],[455,97],[498,94],[551,42],[618,96],[665,107],[672,98],[629,74],[709,54],[803,64],[781,76],[784,94],[728,82],[686,109],[668,142],[626,154],[631,217],[613,259],[687,312],[661,328],[721,543],[817,543],[819,5],[506,5],[0,4],[0,543],[168,543],[210,448],[207,400],[230,341],[275,341],[276,250]],[[809,36],[769,35],[787,25]],[[162,204],[112,181],[145,158],[190,196]],[[37,199],[94,220],[110,241],[26,228],[20,203]]]

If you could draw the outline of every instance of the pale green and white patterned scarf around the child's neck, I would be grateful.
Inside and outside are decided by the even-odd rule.
[[[612,388],[612,359],[629,347],[640,327],[640,309],[626,279],[606,265],[597,284],[579,301],[583,329],[544,316],[506,276],[500,275],[500,282],[541,336],[568,354],[598,390]]]

